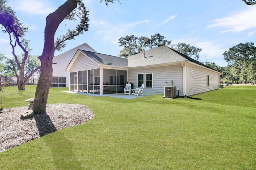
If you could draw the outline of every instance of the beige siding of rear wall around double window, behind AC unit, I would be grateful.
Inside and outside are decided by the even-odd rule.
[[[179,95],[183,94],[182,86],[182,66],[172,65],[172,66],[161,66],[161,67],[151,67],[151,68],[130,68],[128,70],[128,83],[133,83],[133,87],[137,88],[137,75],[144,74],[145,83],[145,73],[153,74],[153,88],[144,88],[144,93],[152,94],[164,94],[164,86],[176,86],[180,88]],[[173,83],[171,83],[171,80]],[[166,83],[167,82],[167,83]],[[178,91],[176,90],[176,95]]]

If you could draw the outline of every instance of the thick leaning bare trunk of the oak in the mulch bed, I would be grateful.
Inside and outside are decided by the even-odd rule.
[[[34,113],[46,113],[46,104],[52,78],[52,58],[54,57],[54,35],[60,23],[77,6],[76,0],[67,0],[55,12],[46,17],[44,29],[44,49],[40,57],[41,74],[36,86],[36,94],[33,105]]]

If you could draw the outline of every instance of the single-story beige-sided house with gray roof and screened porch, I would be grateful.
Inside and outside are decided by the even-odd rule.
[[[149,49],[126,59],[78,49],[68,64],[70,91],[110,94],[145,84],[144,93],[164,94],[176,86],[176,95],[189,96],[219,88],[220,72],[167,47]]]

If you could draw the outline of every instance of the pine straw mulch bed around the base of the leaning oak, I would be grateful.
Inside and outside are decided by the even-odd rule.
[[[46,106],[46,114],[20,119],[20,114],[27,110],[28,106],[14,107],[0,113],[0,152],[54,131],[86,123],[94,117],[84,105],[53,104]]]

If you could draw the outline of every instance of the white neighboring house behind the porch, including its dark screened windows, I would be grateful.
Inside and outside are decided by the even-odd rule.
[[[52,84],[51,87],[69,87],[69,73],[65,72],[70,60],[78,49],[96,52],[88,44],[83,43],[65,53],[62,53],[52,59]]]

